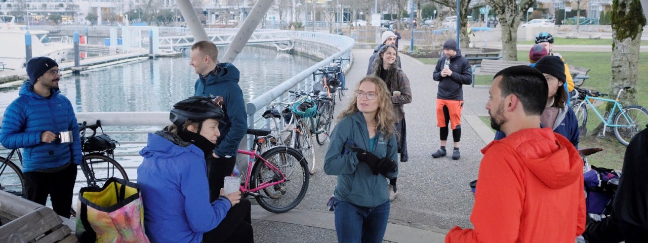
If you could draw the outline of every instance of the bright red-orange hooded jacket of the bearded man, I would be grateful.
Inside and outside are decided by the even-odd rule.
[[[574,242],[585,227],[583,160],[551,128],[520,130],[481,150],[474,229],[450,242]]]

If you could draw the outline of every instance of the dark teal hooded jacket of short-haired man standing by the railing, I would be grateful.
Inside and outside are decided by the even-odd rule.
[[[248,131],[248,114],[245,110],[245,100],[243,92],[238,86],[238,69],[230,63],[216,64],[220,71],[213,75],[209,73],[207,77],[202,78],[198,75],[198,80],[194,85],[196,92],[194,95],[205,97],[223,97],[224,122],[218,124],[221,136],[216,141],[214,152],[218,157],[236,156],[238,144]]]

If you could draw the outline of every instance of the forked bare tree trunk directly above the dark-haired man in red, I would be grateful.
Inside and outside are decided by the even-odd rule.
[[[518,60],[518,27],[520,19],[536,0],[485,0],[492,6],[502,27],[502,57],[504,60]]]

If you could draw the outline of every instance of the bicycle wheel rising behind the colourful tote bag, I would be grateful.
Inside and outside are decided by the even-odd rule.
[[[102,154],[83,156],[80,172],[76,173],[75,194],[81,187],[103,187],[109,178],[121,178],[128,181],[126,170],[110,157]]]

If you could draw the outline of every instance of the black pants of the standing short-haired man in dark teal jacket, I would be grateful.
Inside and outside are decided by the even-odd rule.
[[[211,156],[209,156],[211,157]],[[207,179],[209,180],[209,202],[214,202],[220,196],[226,176],[232,175],[237,157],[207,158]]]

